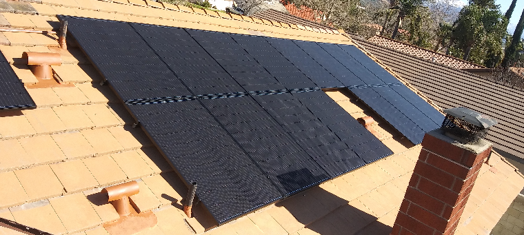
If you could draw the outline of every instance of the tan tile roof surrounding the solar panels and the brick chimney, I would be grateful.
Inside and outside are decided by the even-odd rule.
[[[337,32],[302,30],[293,25],[206,12],[141,0],[44,0],[30,3],[36,15],[3,12],[10,28],[57,30],[57,14],[151,23],[269,37],[347,43]],[[58,47],[53,34],[0,33],[1,52],[25,83],[34,110],[0,112],[0,217],[52,234],[107,234],[101,225],[119,218],[97,197],[103,187],[139,181],[131,196],[141,212],[152,211],[157,225],[141,234],[193,234],[181,201],[187,188],[139,129],[117,96],[101,86],[101,76],[74,41]],[[21,54],[58,52],[53,66],[61,83],[37,80]],[[370,129],[394,152],[358,170],[305,190],[285,201],[211,229],[205,234],[389,234],[421,151],[347,91],[326,92],[355,118],[373,116]],[[501,156],[484,164],[457,234],[481,234],[497,223],[524,178]],[[214,226],[197,204],[193,229]],[[0,233],[12,230],[0,227]]]

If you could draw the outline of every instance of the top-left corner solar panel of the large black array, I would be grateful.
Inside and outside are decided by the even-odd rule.
[[[192,95],[130,24],[68,21],[82,50],[124,101]]]

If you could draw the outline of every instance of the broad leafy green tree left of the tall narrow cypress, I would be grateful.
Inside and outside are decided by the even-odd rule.
[[[458,15],[450,38],[450,54],[474,63],[494,66],[503,54],[507,19],[493,0],[470,0]],[[496,61],[496,62],[494,62]]]

